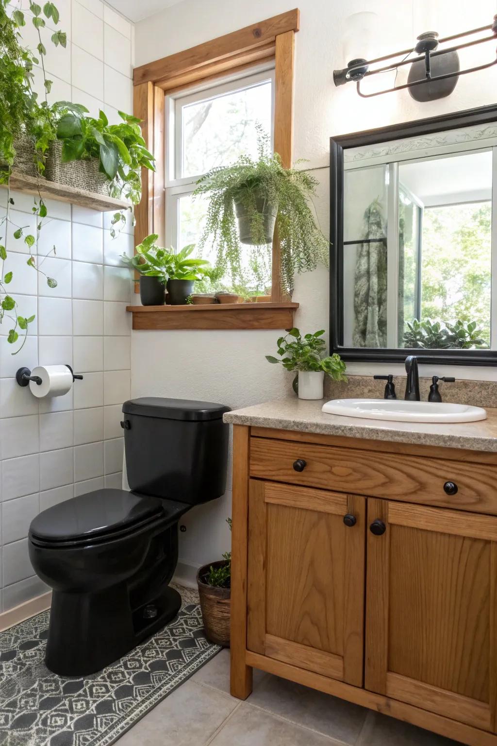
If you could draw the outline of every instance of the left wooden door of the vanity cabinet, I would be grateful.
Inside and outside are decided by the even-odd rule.
[[[248,650],[362,686],[365,503],[250,480]]]

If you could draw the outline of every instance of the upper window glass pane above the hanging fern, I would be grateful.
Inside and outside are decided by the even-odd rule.
[[[271,133],[271,81],[182,107],[179,178],[229,166],[238,156],[257,155],[259,124]]]

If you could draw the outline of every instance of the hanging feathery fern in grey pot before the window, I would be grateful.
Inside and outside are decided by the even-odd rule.
[[[232,166],[212,169],[197,181],[194,195],[209,197],[200,247],[212,242],[218,251],[215,272],[223,276],[229,269],[233,283],[244,285],[241,243],[270,243],[277,216],[282,289],[291,293],[296,272],[328,263],[329,242],[308,204],[317,180],[306,171],[284,169],[279,154],[268,151],[268,138],[259,134],[257,160],[242,155]],[[256,254],[253,248],[250,262],[257,260]]]

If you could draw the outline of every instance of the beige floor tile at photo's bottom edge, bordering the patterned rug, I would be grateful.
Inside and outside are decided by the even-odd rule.
[[[237,704],[186,681],[124,733],[118,746],[205,746]]]

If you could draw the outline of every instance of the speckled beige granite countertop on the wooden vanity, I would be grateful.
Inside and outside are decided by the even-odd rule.
[[[323,414],[324,401],[327,400],[276,399],[228,412],[224,421],[301,433],[497,452],[497,409],[487,408],[487,419],[478,422],[393,422]]]

